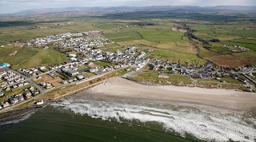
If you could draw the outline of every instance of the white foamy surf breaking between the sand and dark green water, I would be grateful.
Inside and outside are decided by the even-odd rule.
[[[256,119],[245,118],[242,112],[229,112],[217,108],[195,105],[159,105],[95,99],[93,97],[70,97],[53,106],[75,114],[102,120],[139,120],[158,122],[166,131],[186,133],[207,141],[254,141]]]

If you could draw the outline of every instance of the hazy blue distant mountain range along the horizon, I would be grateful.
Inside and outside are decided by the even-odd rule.
[[[149,11],[179,11],[179,12],[231,12],[231,13],[256,13],[256,6],[118,6],[118,7],[66,7],[23,10],[15,14],[50,14],[63,12],[82,11],[113,11],[113,10],[149,10]]]

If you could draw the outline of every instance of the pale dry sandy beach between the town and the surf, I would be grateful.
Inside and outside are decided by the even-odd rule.
[[[207,105],[234,111],[243,111],[256,107],[256,93],[226,89],[142,85],[121,77],[111,78],[109,81],[87,89],[86,93]]]

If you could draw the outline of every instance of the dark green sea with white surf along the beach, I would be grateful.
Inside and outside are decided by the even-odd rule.
[[[255,141],[252,110],[78,93],[0,124],[0,141]]]

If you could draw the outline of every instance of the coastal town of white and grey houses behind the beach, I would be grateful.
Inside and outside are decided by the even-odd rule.
[[[11,69],[11,65],[3,63],[0,67],[0,108],[15,106],[38,95],[43,95],[66,85],[76,85],[92,77],[125,69],[126,73],[152,72],[159,78],[169,78],[171,75],[186,76],[191,79],[214,79],[227,83],[223,77],[232,77],[241,81],[247,89],[256,85],[256,66],[246,66],[238,69],[223,69],[208,61],[206,65],[182,65],[168,63],[159,59],[150,59],[148,53],[154,49],[140,49],[136,46],[126,46],[114,52],[99,49],[104,45],[113,44],[101,31],[76,32],[50,35],[35,38],[24,46],[47,49],[48,45],[58,47],[58,50],[69,52],[69,60],[61,65],[42,65],[32,69]],[[226,45],[228,46],[228,45]],[[238,47],[243,50],[245,48]],[[146,68],[146,69],[144,69]],[[43,101],[35,102],[42,105]]]

